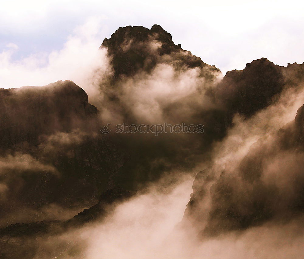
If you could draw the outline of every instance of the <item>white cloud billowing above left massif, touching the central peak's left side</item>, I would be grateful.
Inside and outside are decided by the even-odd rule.
[[[90,18],[74,29],[61,50],[35,53],[20,60],[12,59],[18,46],[10,43],[9,49],[0,53],[0,88],[41,86],[58,80],[71,80],[89,95],[95,93],[96,82],[110,69],[106,50],[98,49],[98,33],[100,19]]]

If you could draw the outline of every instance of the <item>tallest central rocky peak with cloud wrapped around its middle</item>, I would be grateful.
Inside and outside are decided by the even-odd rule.
[[[101,86],[103,105],[121,123],[204,124],[205,118],[212,117],[213,113],[207,114],[209,111],[203,108],[203,99],[220,74],[219,69],[174,44],[171,34],[161,26],[154,25],[150,30],[143,26],[119,28],[105,38],[103,47],[108,50],[113,68],[113,76]],[[147,136],[117,136],[117,145],[127,153],[117,181],[126,189],[156,180],[164,170],[187,170],[202,153],[197,146],[207,146],[208,139],[197,142],[190,135]],[[191,159],[189,149],[195,153]]]

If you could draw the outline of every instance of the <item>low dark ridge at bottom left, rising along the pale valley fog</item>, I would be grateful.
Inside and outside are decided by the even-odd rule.
[[[0,257],[1,258],[33,258],[39,253],[39,245],[45,239],[56,238],[68,231],[75,231],[81,226],[88,226],[90,223],[103,221],[110,216],[115,206],[127,200],[133,195],[130,191],[115,187],[108,189],[100,195],[97,204],[79,212],[73,218],[66,221],[44,220],[38,222],[16,223],[0,228]],[[16,249],[16,244],[19,249]],[[64,254],[66,250],[78,251],[78,243],[67,243],[57,250],[52,250],[51,254],[58,256]]]

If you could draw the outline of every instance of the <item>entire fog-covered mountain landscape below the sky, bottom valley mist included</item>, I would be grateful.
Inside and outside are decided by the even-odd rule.
[[[0,89],[1,257],[301,255],[304,63],[261,58],[223,76],[159,25],[119,28],[100,48],[94,95],[71,81]],[[204,132],[115,133],[124,122]]]

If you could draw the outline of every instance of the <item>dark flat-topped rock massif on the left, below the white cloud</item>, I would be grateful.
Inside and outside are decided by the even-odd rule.
[[[14,222],[20,208],[39,220],[51,204],[92,204],[113,186],[122,156],[100,134],[98,110],[83,89],[58,81],[0,95],[1,224]]]

